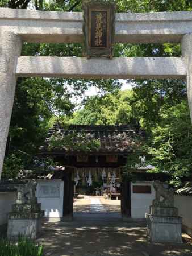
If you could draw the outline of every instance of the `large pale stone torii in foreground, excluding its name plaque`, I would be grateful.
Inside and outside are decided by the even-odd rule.
[[[186,79],[192,118],[192,11],[115,15],[115,43],[181,43],[182,57],[20,57],[22,42],[82,43],[82,25],[82,13],[0,9],[0,179],[17,77]]]

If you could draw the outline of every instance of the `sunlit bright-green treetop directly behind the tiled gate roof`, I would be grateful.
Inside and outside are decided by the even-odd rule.
[[[81,125],[126,125],[135,123],[130,105],[131,90],[88,98],[83,109],[69,123]]]

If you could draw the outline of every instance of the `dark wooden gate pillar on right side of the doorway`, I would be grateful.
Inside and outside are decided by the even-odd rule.
[[[131,181],[124,179],[121,184],[122,219],[131,218]]]

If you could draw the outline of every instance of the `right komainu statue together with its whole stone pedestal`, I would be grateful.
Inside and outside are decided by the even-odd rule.
[[[182,243],[182,218],[174,207],[173,189],[166,189],[160,181],[153,181],[153,187],[156,197],[146,214],[149,240]]]

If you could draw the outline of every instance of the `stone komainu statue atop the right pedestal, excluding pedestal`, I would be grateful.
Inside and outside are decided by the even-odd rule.
[[[160,181],[153,181],[156,197],[153,200],[153,206],[156,207],[174,207],[174,191],[172,188],[166,189]],[[161,201],[161,199],[163,199]]]

